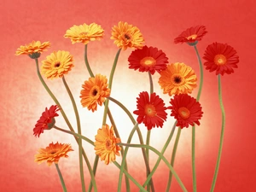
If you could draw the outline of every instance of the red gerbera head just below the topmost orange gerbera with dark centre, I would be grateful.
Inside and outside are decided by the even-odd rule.
[[[130,62],[129,68],[139,69],[140,72],[149,71],[151,74],[154,74],[155,71],[160,73],[161,70],[166,69],[168,58],[162,50],[143,46],[143,49],[132,51],[128,61]]]

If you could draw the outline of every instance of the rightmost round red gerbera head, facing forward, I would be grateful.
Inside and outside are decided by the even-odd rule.
[[[208,45],[203,58],[204,65],[210,72],[216,71],[216,75],[224,73],[234,73],[233,68],[237,68],[239,56],[236,50],[228,44],[213,43]]]

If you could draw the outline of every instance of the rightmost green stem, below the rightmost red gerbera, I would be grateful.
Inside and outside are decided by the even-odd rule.
[[[218,147],[218,158],[216,162],[216,167],[215,167],[215,172],[214,176],[212,179],[212,187],[211,187],[211,192],[213,192],[215,188],[215,183],[217,180],[218,176],[218,167],[220,163],[220,158],[221,158],[221,153],[222,153],[222,148],[223,148],[223,142],[224,142],[224,128],[225,128],[225,111],[224,111],[224,104],[222,100],[222,89],[221,89],[221,79],[220,79],[220,74],[218,74],[218,100],[219,100],[219,105],[221,108],[221,113],[222,113],[222,124],[221,124],[221,133],[220,133],[220,141],[219,141],[219,147]]]

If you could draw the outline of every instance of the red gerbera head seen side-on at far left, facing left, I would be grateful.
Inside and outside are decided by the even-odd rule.
[[[39,137],[41,133],[44,133],[44,130],[51,129],[55,125],[55,117],[59,116],[56,112],[59,110],[60,108],[57,105],[52,105],[49,109],[45,108],[33,129],[35,137]]]

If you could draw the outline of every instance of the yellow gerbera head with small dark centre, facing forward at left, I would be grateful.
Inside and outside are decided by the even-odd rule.
[[[74,66],[73,55],[65,50],[54,51],[42,63],[41,71],[47,79],[62,78]]]

